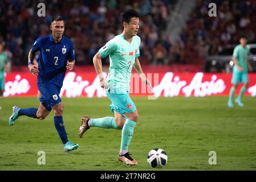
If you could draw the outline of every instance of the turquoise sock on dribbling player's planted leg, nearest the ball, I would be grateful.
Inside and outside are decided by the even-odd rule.
[[[133,129],[136,126],[136,122],[126,119],[123,130],[122,130],[122,137],[121,137],[121,150],[128,151],[128,146],[132,140],[133,136]],[[120,154],[123,155],[123,154]]]

